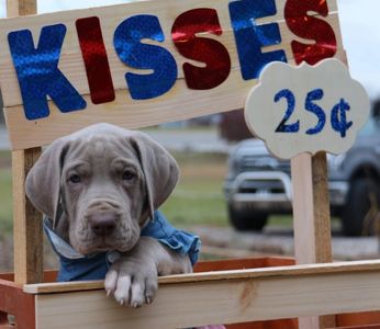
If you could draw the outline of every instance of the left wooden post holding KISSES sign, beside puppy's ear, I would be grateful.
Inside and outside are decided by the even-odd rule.
[[[7,16],[36,13],[36,0],[7,0]],[[43,281],[42,214],[25,196],[25,178],[41,148],[12,151],[14,282]],[[42,191],[43,192],[43,191]]]

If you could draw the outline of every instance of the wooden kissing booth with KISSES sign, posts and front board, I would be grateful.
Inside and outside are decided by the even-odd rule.
[[[200,263],[193,274],[160,277],[156,300],[139,309],[107,298],[102,282],[55,283],[44,273],[42,214],[24,192],[41,147],[79,128],[242,109],[271,61],[346,63],[336,0],[146,0],[43,15],[35,0],[8,0],[7,10],[0,82],[12,144],[14,275],[0,275],[0,328],[12,327],[8,315],[20,329],[380,324],[380,261],[332,262],[323,151],[291,161],[297,264]],[[367,313],[347,315],[359,311]]]

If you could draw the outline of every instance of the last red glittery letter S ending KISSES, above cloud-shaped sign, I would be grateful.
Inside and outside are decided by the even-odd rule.
[[[333,27],[327,22],[309,15],[309,12],[317,12],[322,16],[327,16],[327,0],[287,1],[284,18],[289,30],[297,36],[315,41],[310,44],[298,41],[291,43],[297,64],[304,60],[314,65],[321,59],[334,57],[337,49]]]

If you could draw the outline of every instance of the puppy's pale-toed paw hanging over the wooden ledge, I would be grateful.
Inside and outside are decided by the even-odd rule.
[[[121,305],[150,304],[158,287],[157,268],[149,259],[122,257],[107,273],[104,287],[107,295],[113,294]]]

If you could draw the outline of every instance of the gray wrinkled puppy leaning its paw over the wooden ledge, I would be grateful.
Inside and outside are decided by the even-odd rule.
[[[157,275],[191,272],[141,229],[178,181],[175,159],[147,135],[97,124],[54,141],[26,179],[26,195],[78,252],[118,250],[104,286],[120,304],[149,304]]]

